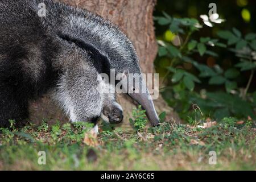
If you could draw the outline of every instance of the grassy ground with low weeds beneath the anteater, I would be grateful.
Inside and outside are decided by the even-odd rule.
[[[136,114],[137,113],[137,114]],[[96,137],[86,123],[32,124],[1,129],[1,170],[255,170],[255,122],[225,118],[200,127],[164,121],[144,126],[134,112],[133,130],[102,124]],[[14,122],[14,121],[10,121]],[[135,125],[137,123],[137,125]],[[141,123],[141,124],[139,124]],[[214,123],[208,121],[208,123]],[[143,125],[143,126],[141,126]],[[12,125],[13,126],[13,125]],[[46,164],[42,154],[46,154]],[[213,152],[210,152],[213,151]],[[209,155],[210,154],[210,155]],[[211,154],[216,154],[211,158]],[[211,160],[213,159],[213,160]],[[216,164],[209,164],[209,160]]]

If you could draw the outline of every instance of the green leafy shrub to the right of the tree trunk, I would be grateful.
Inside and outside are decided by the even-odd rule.
[[[255,118],[255,99],[249,88],[256,69],[256,34],[243,36],[240,30],[232,28],[231,31],[217,32],[224,42],[209,36],[196,38],[194,35],[203,27],[199,21],[173,18],[166,13],[163,15],[155,20],[160,25],[168,26],[168,31],[175,35],[174,40],[183,40],[179,44],[174,40],[158,40],[158,56],[165,57],[170,63],[165,67],[162,81],[166,85],[162,94],[168,104],[175,107],[185,120],[188,115],[193,115],[192,104],[198,105],[203,113],[219,121],[229,116]],[[199,56],[202,59],[217,59],[216,50],[233,53],[233,59],[238,63],[222,68],[218,64],[208,65],[195,59]],[[191,68],[186,69],[184,64]],[[246,86],[241,87],[239,81],[243,71],[250,71],[251,76]]]

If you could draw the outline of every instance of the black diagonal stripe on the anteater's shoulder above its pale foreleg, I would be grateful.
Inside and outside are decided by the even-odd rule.
[[[86,44],[84,41],[77,39],[77,38],[72,38],[69,35],[64,35],[64,34],[57,34],[61,39],[66,40],[70,43],[75,43],[76,46],[84,49],[90,56],[90,58],[93,60],[93,66],[96,68],[98,73],[106,73],[108,76],[110,76],[110,64],[109,64],[109,59],[105,55],[102,55],[98,49],[93,47],[90,44]]]

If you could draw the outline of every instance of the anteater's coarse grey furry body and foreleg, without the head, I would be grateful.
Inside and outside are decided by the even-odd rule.
[[[39,4],[46,5],[40,17]],[[52,0],[0,1],[0,127],[28,118],[28,101],[51,92],[72,122],[121,122],[114,89],[99,78],[141,73],[133,44],[113,23]],[[104,115],[105,114],[105,115]]]

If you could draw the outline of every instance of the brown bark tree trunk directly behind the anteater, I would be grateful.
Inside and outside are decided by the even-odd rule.
[[[123,32],[133,42],[139,59],[143,73],[154,73],[154,59],[158,51],[156,44],[153,10],[156,0],[60,0],[69,5],[80,7],[97,13],[117,24]],[[129,123],[131,111],[135,107],[134,102],[125,94],[118,96],[118,102],[123,107],[124,123]],[[159,95],[157,100],[154,100],[156,111],[158,114],[166,111],[167,119],[174,118],[180,122],[179,117],[174,111],[168,107],[163,98]],[[40,121],[42,118],[50,118],[51,120],[60,119],[67,121],[63,117],[61,111],[56,109],[55,104],[49,101],[48,97],[43,97],[37,102],[32,103],[31,119]]]

